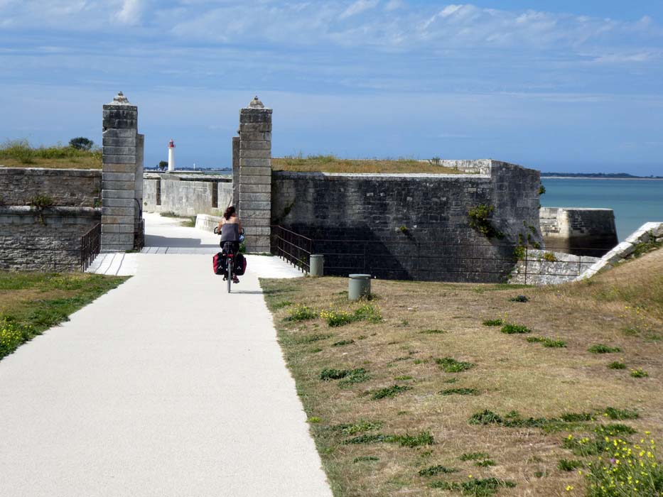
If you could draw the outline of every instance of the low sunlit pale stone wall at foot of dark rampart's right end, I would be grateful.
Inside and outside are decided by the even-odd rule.
[[[556,285],[578,278],[597,257],[574,256],[571,253],[528,249],[519,259],[509,283],[519,285]]]

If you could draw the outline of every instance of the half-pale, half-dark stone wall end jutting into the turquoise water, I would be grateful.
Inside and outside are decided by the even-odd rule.
[[[551,250],[601,257],[618,244],[613,209],[541,207],[541,234]]]

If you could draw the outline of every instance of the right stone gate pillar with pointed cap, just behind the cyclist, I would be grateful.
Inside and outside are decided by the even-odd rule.
[[[253,253],[271,251],[271,112],[258,97],[239,111],[239,218]]]

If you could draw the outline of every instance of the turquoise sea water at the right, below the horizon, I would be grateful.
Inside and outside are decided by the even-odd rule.
[[[642,224],[663,222],[663,180],[579,180],[542,178],[543,207],[601,207],[615,211],[622,241]]]

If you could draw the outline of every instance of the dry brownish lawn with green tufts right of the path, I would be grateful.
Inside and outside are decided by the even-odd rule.
[[[337,497],[460,496],[460,485],[470,480],[468,475],[476,481],[497,478],[517,484],[496,486],[500,497],[584,496],[589,466],[578,468],[583,471],[579,475],[577,469],[563,471],[557,465],[561,459],[588,464],[603,454],[600,440],[615,435],[595,432],[598,427],[614,431],[620,428],[611,423],[622,424],[638,432],[622,437],[663,439],[663,342],[647,339],[663,331],[663,299],[652,297],[663,295],[661,285],[663,251],[647,253],[588,281],[520,291],[505,285],[374,280],[381,321],[328,327],[319,316],[301,322],[284,317],[296,304],[354,312],[361,304],[350,304],[341,294],[347,289],[346,278],[262,280],[306,414],[322,420],[308,427]],[[509,302],[521,292],[527,292],[527,304]],[[276,308],[284,301],[293,305]],[[561,340],[566,348],[534,346],[526,340],[532,335],[517,339],[483,326],[484,320],[496,317],[503,320],[499,327],[516,323],[536,330],[532,335]],[[401,326],[403,320],[406,327]],[[635,326],[643,330],[639,335],[622,333]],[[420,332],[427,329],[446,333]],[[320,334],[325,338],[309,342],[308,337]],[[365,339],[357,339],[360,336]],[[355,343],[331,346],[350,339]],[[622,351],[608,356],[588,353],[594,344]],[[321,350],[313,353],[313,346]],[[394,361],[401,357],[410,359]],[[476,366],[447,373],[437,364],[438,358]],[[627,367],[609,370],[611,361]],[[324,368],[365,368],[370,379],[339,388],[345,378],[320,381]],[[649,377],[632,378],[632,368],[642,368]],[[407,376],[416,381],[394,379]],[[450,379],[456,383],[446,383]],[[394,384],[413,388],[372,400],[372,393]],[[440,394],[451,388],[473,388],[480,395]],[[629,417],[634,413],[637,417]],[[470,424],[476,414],[478,423]],[[352,435],[331,428],[360,420],[379,420],[382,425]],[[361,435],[421,432],[429,432],[435,443],[414,448],[396,442],[343,443]],[[645,437],[646,432],[651,434]],[[568,435],[588,442],[576,447],[564,442]],[[572,449],[596,455],[573,454]],[[473,452],[483,454],[459,459]],[[379,461],[355,464],[358,457]],[[475,466],[487,460],[497,466]],[[439,465],[458,473],[419,475],[422,469]],[[431,488],[435,481],[456,486],[444,493]],[[566,492],[567,486],[573,491]],[[466,491],[483,491],[479,488]]]

